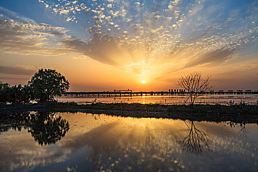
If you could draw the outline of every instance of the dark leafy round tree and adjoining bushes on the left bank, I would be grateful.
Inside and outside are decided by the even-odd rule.
[[[16,104],[54,101],[55,96],[69,89],[69,82],[52,69],[39,69],[24,86],[10,86],[0,82],[0,103]]]

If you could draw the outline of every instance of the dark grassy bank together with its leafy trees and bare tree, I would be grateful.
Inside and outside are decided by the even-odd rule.
[[[173,118],[182,120],[233,121],[258,123],[258,104],[247,105],[195,105],[194,101],[211,88],[209,78],[203,79],[200,72],[181,77],[178,86],[185,88],[190,105],[161,104],[127,104],[127,103],[92,103],[78,105],[77,103],[60,103],[55,96],[60,96],[69,89],[69,82],[63,75],[52,69],[39,69],[25,85],[10,86],[0,82],[0,114],[18,112],[84,112],[92,114],[107,114],[132,117]],[[191,88],[191,89],[190,89]],[[38,102],[31,104],[29,102]]]

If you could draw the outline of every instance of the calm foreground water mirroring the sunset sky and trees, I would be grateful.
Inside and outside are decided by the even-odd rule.
[[[0,171],[258,169],[257,124],[37,112],[0,120]]]

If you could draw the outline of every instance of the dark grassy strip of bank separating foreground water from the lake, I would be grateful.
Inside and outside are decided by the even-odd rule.
[[[127,103],[92,103],[78,105],[77,103],[35,103],[0,105],[0,112],[69,112],[92,113],[131,117],[173,118],[197,121],[232,121],[258,123],[258,105],[160,105],[160,104],[127,104]]]

